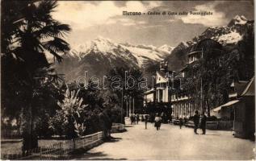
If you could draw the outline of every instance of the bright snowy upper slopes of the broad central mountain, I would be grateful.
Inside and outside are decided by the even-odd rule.
[[[170,53],[171,49],[172,47],[167,45],[154,47],[153,45],[119,44],[112,42],[111,39],[98,37],[97,39],[73,47],[69,56],[78,57],[79,60],[82,60],[88,54],[101,53],[103,56],[107,56],[108,60],[115,60],[120,57],[123,60],[131,61],[141,68],[148,61],[163,60]]]

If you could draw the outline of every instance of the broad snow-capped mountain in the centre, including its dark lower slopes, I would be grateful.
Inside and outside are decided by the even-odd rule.
[[[114,43],[111,39],[98,37],[92,41],[72,47],[64,56],[64,62],[57,65],[57,71],[65,73],[67,80],[81,76],[84,71],[90,75],[103,76],[111,68],[141,68],[144,70],[151,64],[164,60],[172,47],[167,45],[132,45],[130,43]]]

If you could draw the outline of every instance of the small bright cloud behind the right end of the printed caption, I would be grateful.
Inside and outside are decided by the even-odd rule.
[[[225,13],[221,11],[217,11],[215,6],[220,2],[215,3],[206,3],[203,5],[195,6],[195,10],[191,10],[194,12],[212,12],[209,15],[200,15],[200,14],[187,14],[186,16],[179,17],[183,23],[191,23],[191,24],[202,24],[205,27],[211,26],[221,26],[227,22],[225,18]]]

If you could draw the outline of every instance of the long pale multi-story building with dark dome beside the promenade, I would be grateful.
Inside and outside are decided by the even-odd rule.
[[[195,110],[198,110],[199,113],[207,112],[208,115],[218,117],[219,115],[229,115],[229,118],[232,118],[233,114],[230,113],[232,110],[227,109],[229,111],[227,112],[224,111],[225,108],[216,108],[214,105],[208,104],[207,96],[204,96],[205,92],[203,92],[203,79],[195,76],[196,68],[199,67],[199,60],[210,65],[218,64],[222,55],[222,46],[212,39],[204,39],[196,43],[187,53],[187,64],[182,70],[178,72],[168,71],[167,62],[160,64],[160,70],[156,72],[154,88],[145,93],[145,98],[155,104],[162,102],[170,105],[173,118],[189,118],[194,115]],[[209,68],[211,67],[209,66]],[[190,81],[193,85],[189,84]],[[238,85],[243,84],[240,82]],[[232,99],[237,97],[236,94],[229,93],[229,101],[233,103]]]

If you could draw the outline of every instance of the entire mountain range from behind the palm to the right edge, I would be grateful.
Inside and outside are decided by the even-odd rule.
[[[78,76],[104,76],[111,68],[137,68],[145,75],[153,74],[159,68],[159,62],[167,60],[169,70],[179,71],[187,64],[187,53],[191,46],[202,39],[214,39],[223,46],[235,46],[254,26],[254,21],[244,16],[235,16],[227,26],[208,27],[201,35],[184,41],[177,47],[165,44],[161,47],[153,45],[134,45],[115,43],[111,39],[98,37],[92,41],[72,47],[66,54],[63,63],[57,64],[57,72],[65,74],[66,81],[75,81]]]

